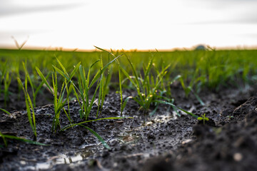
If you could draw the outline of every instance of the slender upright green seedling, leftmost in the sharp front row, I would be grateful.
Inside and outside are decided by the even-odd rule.
[[[27,110],[27,115],[29,118],[29,124],[31,125],[31,128],[33,130],[34,138],[36,139],[36,118],[35,118],[35,113],[34,113],[34,106],[31,101],[31,98],[29,96],[28,89],[27,89],[28,88],[28,86],[27,86],[28,76],[25,76],[25,83],[24,83],[25,88],[24,88],[20,78],[17,78],[17,81],[19,83],[19,86],[21,86],[22,90],[24,91],[26,110]],[[32,111],[32,115],[31,115],[31,111]]]

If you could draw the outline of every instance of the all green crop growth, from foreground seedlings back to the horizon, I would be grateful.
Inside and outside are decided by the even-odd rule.
[[[201,107],[211,108],[211,102],[206,104],[202,99],[202,91],[218,94],[227,88],[243,90],[256,86],[256,56],[256,50],[112,51],[96,47],[96,51],[76,52],[1,49],[1,113],[12,117],[15,110],[26,110],[33,139],[0,132],[4,142],[0,147],[7,147],[9,140],[46,145],[37,139],[37,130],[41,128],[37,125],[39,114],[35,108],[41,108],[41,101],[54,110],[49,114],[52,135],[79,126],[93,134],[108,150],[111,147],[101,137],[100,128],[95,131],[88,123],[133,119],[126,113],[126,105],[131,100],[140,106],[138,111],[149,118],[156,114],[160,105],[168,105],[168,110],[173,110],[178,120],[182,111],[193,120],[202,120],[205,125],[210,122],[208,115],[185,110],[185,105],[177,103],[180,99],[171,93],[173,88],[183,90],[182,98],[188,101],[193,98]],[[119,95],[119,100],[116,98],[113,102],[119,106],[119,112],[103,118],[101,110],[109,93]],[[72,102],[79,106],[75,112],[79,120],[74,120],[74,109],[70,110]],[[19,103],[20,108],[16,108],[15,104]]]

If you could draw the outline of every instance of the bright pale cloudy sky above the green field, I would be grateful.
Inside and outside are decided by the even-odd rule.
[[[0,0],[0,48],[257,47],[257,0]]]

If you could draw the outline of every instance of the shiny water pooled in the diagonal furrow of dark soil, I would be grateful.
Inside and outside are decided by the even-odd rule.
[[[190,110],[193,110],[194,107],[192,107]],[[183,115],[183,113],[181,113]],[[129,128],[125,128],[124,131],[122,131],[119,135],[117,135],[117,138],[111,138],[110,140],[106,140],[107,143],[111,143],[113,141],[118,141],[119,143],[133,143],[138,140],[138,138],[142,138],[140,135],[133,135],[134,131],[140,131],[144,127],[152,127],[156,128],[157,123],[167,123],[169,120],[176,120],[177,119],[177,113],[166,113],[165,115],[156,115],[153,116],[153,118],[145,123],[142,123],[142,125],[138,128],[133,128],[133,130]],[[172,140],[167,140],[169,142],[174,142],[173,138]],[[176,142],[175,142],[176,143]],[[46,162],[36,162],[36,165],[28,165],[28,163],[24,160],[21,160],[21,165],[28,165],[26,167],[20,168],[21,170],[51,170],[54,165],[60,165],[60,164],[75,164],[79,165],[79,162],[82,160],[88,160],[92,157],[94,157],[94,154],[96,152],[101,152],[104,147],[101,145],[101,142],[89,144],[87,142],[84,143],[84,145],[81,145],[79,149],[75,150],[75,155],[65,155],[65,154],[59,154],[53,157],[48,157],[48,160]],[[67,154],[69,154],[69,151],[67,151]],[[136,153],[131,155],[124,156],[125,158],[129,157],[136,157],[136,156],[143,156],[143,157],[149,157],[151,155],[158,154],[158,150],[152,149],[152,150],[146,150],[142,153]]]

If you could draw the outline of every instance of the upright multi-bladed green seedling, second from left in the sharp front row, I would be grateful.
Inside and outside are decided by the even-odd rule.
[[[46,78],[44,77],[43,73],[41,73],[39,68],[36,68],[36,71],[39,73],[39,76],[41,77],[42,81],[44,81],[44,83],[46,84],[46,87],[49,88],[51,93],[54,95],[54,120],[53,120],[53,125],[52,125],[52,132],[56,132],[57,128],[61,128],[60,121],[59,121],[61,109],[64,109],[64,105],[66,105],[66,103],[69,99],[69,95],[71,94],[72,90],[74,89],[72,82],[71,83],[69,83],[69,82],[71,81],[71,78],[74,76],[74,74],[78,70],[79,64],[80,63],[78,63],[78,65],[71,72],[70,76],[68,73],[66,73],[67,77],[64,78],[64,82],[61,84],[60,92],[58,92],[59,83],[57,80],[57,71],[61,71],[61,70],[59,68],[57,68],[56,66],[53,66],[53,73],[52,73],[53,88],[51,88],[49,83],[46,81]],[[63,68],[65,70],[64,66],[62,66],[62,65],[61,65],[61,68]],[[69,87],[68,90],[67,90],[67,87]],[[65,93],[66,93],[66,98],[64,98]],[[69,118],[69,115],[67,115],[67,117]],[[71,121],[70,118],[69,118],[69,120]]]

